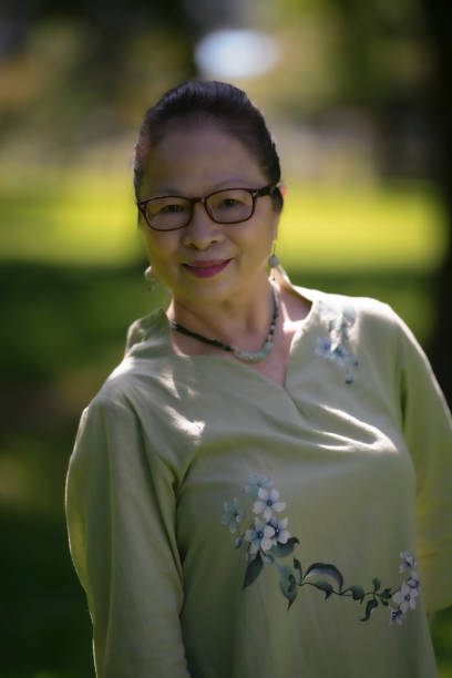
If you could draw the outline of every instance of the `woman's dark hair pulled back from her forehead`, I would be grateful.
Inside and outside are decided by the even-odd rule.
[[[188,81],[166,92],[144,115],[133,157],[133,184],[137,196],[147,155],[177,122],[214,121],[240,141],[259,164],[269,184],[280,179],[279,157],[264,120],[243,90],[224,82]],[[282,207],[279,189],[273,194],[275,209]]]

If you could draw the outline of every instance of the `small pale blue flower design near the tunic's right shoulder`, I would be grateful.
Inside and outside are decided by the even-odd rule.
[[[355,325],[355,309],[347,306],[339,315],[331,309],[330,315],[332,317],[328,323],[329,336],[317,339],[316,353],[341,364],[346,372],[346,383],[353,383],[352,369],[358,367],[358,359],[350,350],[349,330]]]

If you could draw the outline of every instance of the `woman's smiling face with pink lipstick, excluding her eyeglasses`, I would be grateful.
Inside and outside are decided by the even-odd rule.
[[[268,181],[235,137],[214,124],[172,130],[151,151],[140,198],[163,195],[202,197],[224,188],[261,188]],[[256,199],[250,219],[217,224],[202,203],[177,230],[152,229],[141,217],[147,256],[176,302],[192,308],[219,302],[267,277],[267,260],[279,214],[266,195]],[[199,269],[196,263],[214,263]]]

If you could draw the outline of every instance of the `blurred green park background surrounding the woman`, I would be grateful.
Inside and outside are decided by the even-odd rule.
[[[2,4],[1,678],[93,676],[64,475],[126,327],[164,295],[142,277],[131,158],[165,89],[247,90],[281,156],[278,254],[294,281],[391,304],[451,398],[446,25],[440,0]],[[452,677],[451,608],[432,637]]]

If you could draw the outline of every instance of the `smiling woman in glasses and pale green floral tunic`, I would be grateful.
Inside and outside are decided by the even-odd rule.
[[[236,88],[185,83],[144,119],[140,223],[171,302],[132,326],[68,475],[100,677],[435,675],[450,415],[389,307],[276,266],[279,179]]]

